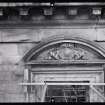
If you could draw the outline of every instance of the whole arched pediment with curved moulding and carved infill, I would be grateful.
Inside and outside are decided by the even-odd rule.
[[[79,37],[56,36],[42,40],[23,58],[31,60],[91,60],[104,59],[105,51],[95,42]]]

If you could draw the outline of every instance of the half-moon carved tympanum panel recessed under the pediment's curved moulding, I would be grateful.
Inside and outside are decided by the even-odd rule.
[[[32,60],[95,60],[102,57],[90,49],[78,43],[62,42],[46,47]]]

